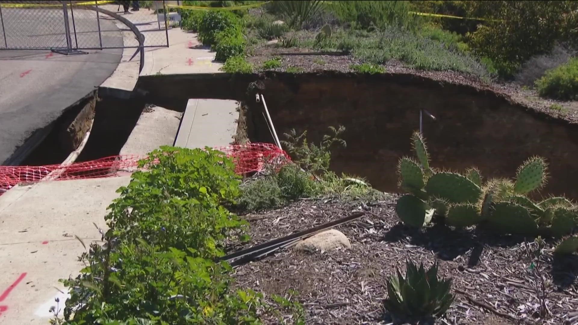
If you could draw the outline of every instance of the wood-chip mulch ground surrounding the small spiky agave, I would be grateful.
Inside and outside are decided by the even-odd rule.
[[[412,230],[399,223],[396,195],[365,204],[324,198],[247,215],[251,242],[283,237],[327,221],[365,211],[336,227],[351,250],[301,252],[292,248],[236,268],[239,287],[268,296],[297,290],[307,324],[386,324],[382,308],[386,280],[405,261],[439,265],[439,276],[453,280],[455,301],[436,324],[575,324],[578,321],[578,257],[554,257],[554,243],[538,249],[523,238],[482,230],[452,230],[434,224]],[[538,252],[538,253],[536,253]],[[535,265],[535,272],[531,265]],[[545,290],[537,289],[544,279]],[[540,315],[540,304],[546,306]],[[274,323],[274,322],[271,322]]]

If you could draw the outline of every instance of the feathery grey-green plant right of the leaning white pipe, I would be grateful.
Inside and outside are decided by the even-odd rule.
[[[281,141],[287,153],[291,155],[299,167],[313,173],[325,173],[329,170],[331,162],[331,147],[341,145],[345,147],[347,143],[340,138],[345,132],[345,127],[329,127],[331,134],[326,134],[321,139],[319,145],[307,141],[307,131],[297,134],[291,130],[288,134],[283,134],[286,141]]]

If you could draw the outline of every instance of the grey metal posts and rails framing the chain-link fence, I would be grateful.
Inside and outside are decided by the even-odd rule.
[[[56,53],[61,53],[61,54],[76,54],[76,53],[86,53],[83,52],[82,50],[102,50],[102,49],[142,49],[144,47],[169,47],[169,31],[168,31],[168,14],[167,14],[167,7],[166,7],[166,3],[163,0],[162,1],[162,9],[164,14],[162,15],[164,17],[164,28],[165,28],[165,38],[166,38],[166,44],[165,45],[144,45],[144,35],[139,31],[139,29],[136,27],[135,24],[131,23],[131,21],[129,21],[128,19],[126,19],[123,16],[120,16],[117,13],[113,13],[110,12],[109,10],[105,10],[102,8],[99,8],[98,5],[98,0],[94,1],[94,6],[90,6],[90,5],[83,5],[83,6],[79,6],[79,5],[75,5],[74,3],[72,3],[72,1],[60,1],[62,3],[62,14],[64,17],[64,32],[65,32],[65,39],[66,39],[66,47],[62,47],[62,46],[53,46],[53,47],[8,47],[8,38],[6,38],[6,29],[5,29],[5,24],[4,24],[4,19],[5,19],[5,13],[2,13],[2,6],[0,6],[0,26],[2,27],[2,36],[4,39],[4,46],[5,47],[0,47],[0,50],[51,50],[54,51]],[[39,7],[42,7],[42,5],[39,5]],[[99,38],[99,47],[83,47],[83,46],[79,46],[78,45],[78,39],[77,39],[77,32],[76,32],[76,22],[75,22],[75,18],[74,18],[74,8],[76,9],[80,9],[80,10],[94,10],[96,12],[96,21],[97,21],[97,26],[98,26],[98,38]],[[68,14],[68,10],[70,10],[71,14],[69,17]],[[132,32],[135,33],[136,38],[139,41],[139,45],[134,45],[134,46],[128,46],[128,45],[124,45],[124,40],[123,40],[123,46],[106,46],[103,45],[102,43],[102,30],[101,30],[101,22],[100,22],[100,14],[106,14],[110,17],[113,17],[114,19],[121,21],[121,23],[127,25],[127,27],[129,29],[132,30]],[[72,19],[72,31],[70,29],[70,20]],[[157,13],[157,21],[158,21],[158,30],[161,30],[161,20],[158,19],[158,13]],[[74,35],[75,38],[75,42],[73,45],[72,43],[72,35]]]

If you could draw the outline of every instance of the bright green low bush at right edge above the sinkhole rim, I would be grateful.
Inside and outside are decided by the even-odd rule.
[[[536,80],[536,87],[542,97],[578,99],[578,57],[546,71],[546,75]]]

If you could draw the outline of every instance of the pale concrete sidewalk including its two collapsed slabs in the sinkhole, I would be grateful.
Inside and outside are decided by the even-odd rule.
[[[219,72],[221,64],[213,62],[214,53],[198,46],[195,34],[173,28],[169,37],[171,47],[145,52],[142,75]],[[121,62],[119,67],[129,65]],[[132,69],[129,74],[138,71],[138,66]],[[118,82],[131,91],[134,84],[130,78],[136,84],[138,74],[127,79],[117,69],[113,77],[116,79],[108,82]],[[237,108],[235,101],[191,99],[182,122],[181,114],[171,110],[143,112],[121,153],[146,154],[173,141],[186,147],[227,146],[236,132]],[[177,128],[179,136],[175,139]],[[84,248],[74,235],[86,245],[100,240],[92,223],[105,227],[106,206],[117,197],[118,187],[128,182],[128,176],[43,182],[16,186],[0,196],[0,261],[4,271],[0,277],[0,324],[47,324],[55,297],[64,308],[66,295],[55,289],[63,289],[58,279],[76,276],[83,268],[77,256]]]

